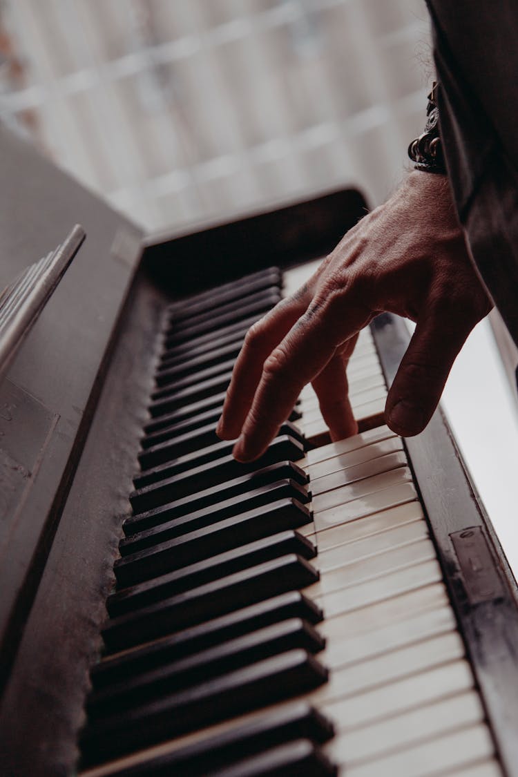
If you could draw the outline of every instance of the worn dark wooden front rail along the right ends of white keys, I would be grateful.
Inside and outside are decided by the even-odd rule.
[[[388,386],[410,339],[405,323],[384,313],[371,324]],[[518,775],[518,606],[516,580],[481,500],[471,483],[447,421],[436,410],[428,427],[405,447],[436,545],[475,681],[481,692],[495,750],[506,777]],[[495,593],[470,601],[451,535],[479,527],[498,578]],[[467,570],[469,573],[469,570]]]

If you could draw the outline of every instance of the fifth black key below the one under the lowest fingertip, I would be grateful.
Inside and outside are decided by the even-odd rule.
[[[126,650],[317,580],[310,563],[290,554],[113,618],[103,629],[103,639],[109,650]]]

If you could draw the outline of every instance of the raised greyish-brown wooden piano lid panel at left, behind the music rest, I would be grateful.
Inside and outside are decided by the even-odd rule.
[[[71,225],[89,235],[30,332],[22,327],[16,355],[7,349],[0,378],[1,689],[89,429],[141,232],[2,125],[0,171],[0,289]],[[65,242],[64,263],[80,240],[76,231]]]

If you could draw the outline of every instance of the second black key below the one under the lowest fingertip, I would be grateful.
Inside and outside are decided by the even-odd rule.
[[[128,553],[150,548],[157,542],[165,542],[165,540],[179,537],[179,535],[189,531],[210,526],[217,521],[223,521],[224,518],[254,510],[256,507],[262,507],[280,499],[296,499],[302,504],[306,504],[310,500],[310,496],[304,486],[299,486],[293,480],[277,481],[269,486],[252,490],[243,496],[232,497],[223,502],[211,504],[209,507],[203,507],[202,510],[194,510],[171,518],[169,521],[165,520],[152,528],[144,529],[144,531],[135,529],[127,538],[120,540],[120,555],[127,556]]]

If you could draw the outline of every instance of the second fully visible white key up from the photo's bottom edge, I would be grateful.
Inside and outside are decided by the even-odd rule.
[[[470,691],[473,687],[471,667],[468,661],[459,659],[356,696],[325,702],[321,709],[334,721],[337,730],[360,729],[407,709],[421,708],[439,699]],[[398,775],[397,771],[386,772],[385,777],[390,773]]]

